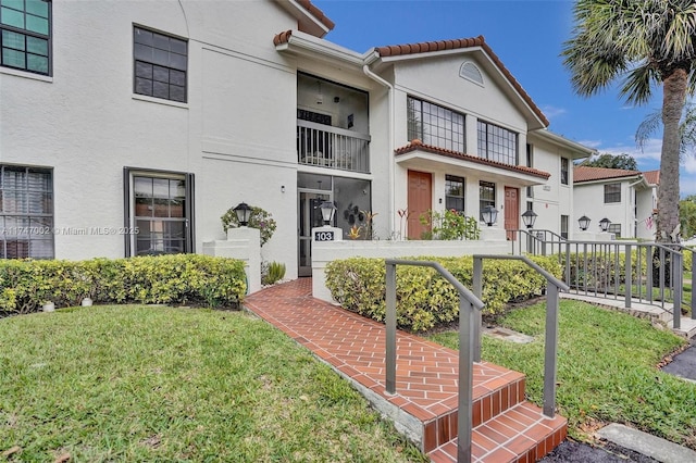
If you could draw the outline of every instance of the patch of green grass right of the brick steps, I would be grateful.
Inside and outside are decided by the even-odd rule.
[[[510,312],[499,325],[533,336],[529,345],[485,336],[482,358],[527,376],[527,396],[543,398],[544,316],[546,304]],[[432,339],[457,349],[456,333]],[[664,355],[684,345],[645,320],[561,301],[558,346],[558,412],[569,434],[588,440],[606,422],[624,423],[696,449],[696,385],[657,368]]]

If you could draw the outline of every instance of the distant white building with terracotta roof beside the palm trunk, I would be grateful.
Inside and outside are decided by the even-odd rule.
[[[599,221],[610,221],[609,233],[617,238],[654,239],[657,188],[660,172],[575,166],[574,201],[577,218],[592,220],[591,230],[598,232]]]

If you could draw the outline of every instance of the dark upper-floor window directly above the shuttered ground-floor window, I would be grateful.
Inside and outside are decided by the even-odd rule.
[[[134,92],[186,102],[186,40],[134,27]]]

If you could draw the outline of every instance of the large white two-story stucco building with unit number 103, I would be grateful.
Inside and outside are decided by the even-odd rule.
[[[308,0],[2,2],[0,28],[3,258],[200,252],[244,201],[294,278],[324,200],[380,239],[428,209],[576,215],[593,150],[546,130],[483,37],[359,53]]]

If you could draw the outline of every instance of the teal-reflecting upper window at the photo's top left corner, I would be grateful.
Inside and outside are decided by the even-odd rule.
[[[51,2],[0,0],[0,64],[49,75]]]

